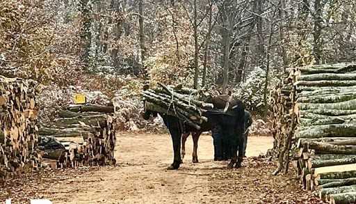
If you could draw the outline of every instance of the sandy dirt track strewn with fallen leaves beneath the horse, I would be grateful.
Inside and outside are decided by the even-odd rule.
[[[211,136],[199,141],[199,163],[191,162],[192,140],[186,145],[184,164],[172,162],[168,135],[120,134],[117,166],[46,171],[11,180],[1,186],[0,203],[12,198],[46,198],[53,203],[322,203],[290,175],[272,176],[273,162],[259,158],[272,146],[272,138],[251,136],[243,167],[229,170],[227,162],[213,162]]]

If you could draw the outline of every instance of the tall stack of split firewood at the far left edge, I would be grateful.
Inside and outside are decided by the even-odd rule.
[[[36,86],[0,76],[0,180],[39,167]]]

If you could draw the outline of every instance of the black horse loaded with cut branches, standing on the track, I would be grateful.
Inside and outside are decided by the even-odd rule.
[[[148,120],[151,115],[156,117],[157,114],[157,112],[145,108],[143,118]],[[243,161],[244,114],[243,103],[240,100],[236,100],[234,107],[225,113],[218,110],[207,110],[203,113],[203,116],[208,118],[208,123],[220,125],[223,136],[232,146],[232,159],[228,164],[229,168],[241,167]],[[159,113],[159,115],[163,118],[163,122],[172,137],[174,159],[168,169],[177,169],[181,164],[181,135],[187,132],[185,130],[187,127],[189,129],[192,127],[175,116],[169,116],[165,113]]]

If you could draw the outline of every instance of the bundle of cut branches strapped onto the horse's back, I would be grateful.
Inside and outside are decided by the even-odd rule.
[[[200,130],[200,124],[207,121],[207,118],[202,116],[202,111],[213,108],[213,104],[204,102],[211,97],[210,93],[182,86],[158,85],[155,89],[149,89],[147,86],[144,88],[145,109],[177,116],[191,127]]]

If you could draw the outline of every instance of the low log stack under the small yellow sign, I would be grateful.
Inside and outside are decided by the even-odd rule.
[[[114,164],[113,106],[73,105],[40,125],[40,149],[57,168]]]

